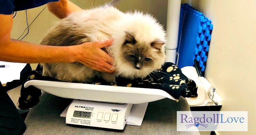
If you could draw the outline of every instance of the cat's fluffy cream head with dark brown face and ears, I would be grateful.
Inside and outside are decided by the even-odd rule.
[[[144,78],[165,61],[165,32],[155,19],[137,16],[123,23],[114,37],[112,55],[119,75]]]

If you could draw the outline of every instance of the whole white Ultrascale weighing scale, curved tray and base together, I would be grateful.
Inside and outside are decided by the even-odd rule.
[[[159,89],[30,80],[30,85],[62,98],[74,99],[60,114],[66,123],[110,129],[124,129],[125,124],[140,126],[148,102],[169,98]]]

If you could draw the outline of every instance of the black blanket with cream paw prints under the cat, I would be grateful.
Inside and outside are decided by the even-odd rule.
[[[63,82],[53,77],[43,76],[42,68],[37,68],[36,70],[32,71],[28,76],[27,81],[29,80]],[[34,86],[24,88],[24,83],[22,84],[20,90],[20,98],[18,101],[18,106],[20,109],[28,109],[36,106],[41,96],[41,90]],[[196,83],[183,75],[180,68],[171,62],[164,63],[162,68],[152,72],[143,80],[130,80],[122,77],[116,77],[116,82],[113,83],[107,83],[105,81],[99,80],[98,82],[87,84],[161,89],[172,95],[176,101],[178,101],[180,96],[187,98],[197,96]]]

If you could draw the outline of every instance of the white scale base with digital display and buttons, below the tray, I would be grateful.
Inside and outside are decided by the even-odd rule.
[[[124,129],[125,124],[140,126],[148,103],[124,104],[74,99],[60,114],[66,123],[111,129]]]

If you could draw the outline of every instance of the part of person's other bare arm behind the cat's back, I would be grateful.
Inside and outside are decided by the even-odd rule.
[[[82,9],[79,6],[70,2],[69,0],[50,2],[47,4],[47,8],[52,14],[54,14],[59,19],[65,18],[73,12],[82,11]]]

